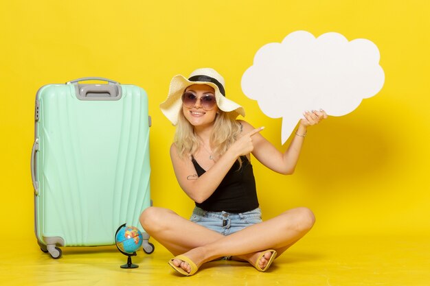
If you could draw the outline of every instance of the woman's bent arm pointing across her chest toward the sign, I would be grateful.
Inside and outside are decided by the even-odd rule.
[[[253,150],[251,136],[260,132],[262,128],[253,129],[240,137],[223,156],[202,176],[197,176],[196,169],[190,158],[179,158],[176,145],[170,147],[170,158],[174,174],[179,185],[194,202],[204,202],[214,193],[237,158],[247,155]]]

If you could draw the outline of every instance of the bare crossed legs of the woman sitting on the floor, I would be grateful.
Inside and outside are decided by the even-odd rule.
[[[273,249],[279,256],[312,228],[315,217],[308,208],[293,208],[227,236],[190,222],[166,208],[146,208],[140,222],[146,232],[172,254],[183,254],[197,267],[219,257],[232,256],[264,268],[271,257],[271,252],[265,250]],[[260,261],[257,261],[258,257]],[[173,263],[185,272],[191,270],[185,261],[174,259]]]

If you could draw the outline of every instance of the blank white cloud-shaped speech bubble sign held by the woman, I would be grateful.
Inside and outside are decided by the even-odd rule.
[[[376,95],[385,80],[379,58],[370,40],[297,31],[257,51],[242,75],[242,91],[268,117],[282,117],[283,144],[305,110],[346,115]]]

